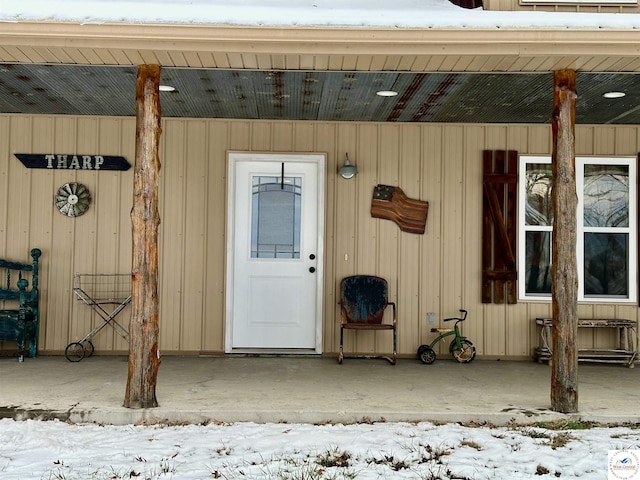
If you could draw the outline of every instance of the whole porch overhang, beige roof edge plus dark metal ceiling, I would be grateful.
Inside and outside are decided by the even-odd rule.
[[[577,123],[638,124],[639,40],[637,29],[5,23],[0,113],[133,116],[135,65],[152,63],[176,88],[164,117],[550,123],[550,72],[572,68]]]

